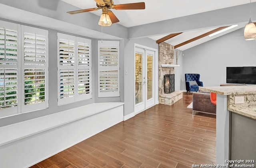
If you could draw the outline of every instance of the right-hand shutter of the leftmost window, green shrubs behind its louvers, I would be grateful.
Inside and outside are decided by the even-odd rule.
[[[25,111],[44,109],[48,107],[48,31],[28,26],[23,26],[23,31],[24,100],[22,104],[24,106],[22,109]]]

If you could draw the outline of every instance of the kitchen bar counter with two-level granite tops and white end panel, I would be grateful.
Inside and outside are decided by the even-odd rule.
[[[254,141],[256,135],[256,85],[200,87],[199,91],[217,94],[216,164],[226,164],[225,160],[242,157],[250,159],[252,154],[255,156],[254,147],[248,142],[250,139]],[[248,131],[241,131],[242,128]],[[247,138],[238,139],[239,136]],[[241,150],[239,144],[243,148],[248,146],[248,150]]]

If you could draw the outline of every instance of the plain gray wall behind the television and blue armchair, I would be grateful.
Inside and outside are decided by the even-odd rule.
[[[204,86],[226,83],[227,66],[256,66],[256,40],[244,40],[244,28],[183,51],[184,74],[199,73]]]

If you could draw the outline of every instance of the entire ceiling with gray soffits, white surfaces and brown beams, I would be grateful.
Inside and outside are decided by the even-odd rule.
[[[243,28],[250,16],[252,21],[256,21],[256,0],[251,0],[251,4],[250,0],[144,0],[145,10],[112,9],[120,22],[103,27],[102,32],[102,27],[98,25],[102,14],[100,10],[75,15],[66,13],[72,10],[96,8],[94,0],[14,1],[0,0],[0,18],[94,39],[148,37],[159,41],[165,37],[166,43],[180,50],[189,49]],[[114,4],[136,2],[143,1],[114,0]],[[235,24],[238,26],[218,35],[212,37],[206,35],[219,27]]]

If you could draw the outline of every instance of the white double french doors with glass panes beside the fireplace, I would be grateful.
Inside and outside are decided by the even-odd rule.
[[[135,47],[135,114],[155,104],[155,51]]]

